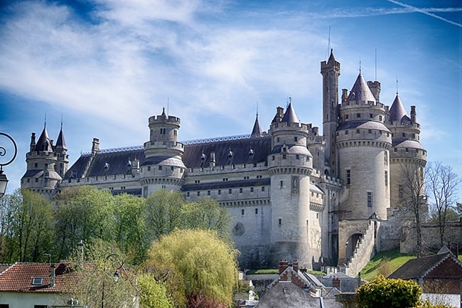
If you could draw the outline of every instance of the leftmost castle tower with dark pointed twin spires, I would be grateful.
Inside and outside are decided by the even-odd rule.
[[[53,140],[48,137],[46,124],[36,142],[36,133],[31,135],[31,145],[26,153],[27,170],[21,178],[21,188],[37,191],[46,198],[52,198],[62,175],[68,169],[63,129],[58,136],[58,144],[53,147]]]

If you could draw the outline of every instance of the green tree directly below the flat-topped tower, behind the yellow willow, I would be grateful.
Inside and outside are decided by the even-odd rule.
[[[181,208],[184,203],[181,192],[166,189],[146,198],[146,228],[151,232],[151,240],[181,228]]]

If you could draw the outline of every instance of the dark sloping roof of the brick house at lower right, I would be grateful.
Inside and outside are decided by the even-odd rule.
[[[448,259],[456,262],[456,265],[462,268],[462,262],[454,257],[452,253],[440,253],[439,255],[430,255],[428,257],[409,260],[402,267],[392,272],[392,275],[388,276],[388,278],[400,278],[404,280],[424,278],[431,270],[434,270]]]

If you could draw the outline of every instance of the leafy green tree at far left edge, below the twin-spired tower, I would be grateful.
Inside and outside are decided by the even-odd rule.
[[[28,189],[17,189],[2,203],[2,262],[48,260],[53,243],[53,208],[50,201]]]

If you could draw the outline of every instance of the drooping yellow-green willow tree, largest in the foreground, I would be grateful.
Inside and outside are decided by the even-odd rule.
[[[215,231],[176,230],[153,243],[148,262],[181,276],[189,307],[193,307],[192,299],[201,297],[213,300],[217,307],[232,302],[236,257],[237,250],[220,240]]]

